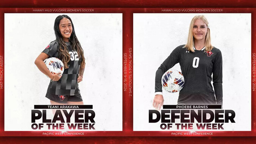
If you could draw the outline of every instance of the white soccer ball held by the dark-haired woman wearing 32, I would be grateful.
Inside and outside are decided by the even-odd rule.
[[[61,73],[60,75],[63,74],[64,64],[60,59],[56,57],[50,57],[48,59],[45,59],[44,63],[52,74],[56,74],[56,73]]]

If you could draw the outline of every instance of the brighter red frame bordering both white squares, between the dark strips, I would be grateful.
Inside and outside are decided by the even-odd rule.
[[[35,2],[36,0],[34,0]],[[59,9],[59,8],[36,8],[36,9]],[[90,8],[76,8],[76,9],[90,9]],[[123,14],[123,53],[129,53],[129,48],[133,48],[133,13],[170,13],[162,12],[164,8],[93,8],[94,12],[86,13],[122,13]],[[168,9],[192,9],[192,8],[168,8]],[[198,9],[198,8],[195,8]],[[200,8],[202,9],[202,8]],[[209,9],[209,8],[207,8]],[[214,9],[214,8],[210,8]],[[220,13],[251,13],[251,23],[256,19],[256,8],[221,8],[223,12]],[[4,13],[44,13],[33,12],[33,8],[1,8],[0,9],[0,55],[4,55]],[[51,13],[51,12],[50,12]],[[58,12],[52,12],[58,13]],[[75,12],[74,12],[75,13]],[[190,13],[190,12],[183,12]],[[213,13],[213,12],[212,12]],[[218,12],[214,12],[218,13]],[[252,25],[252,53],[256,52],[255,41],[256,25]],[[133,53],[133,52],[132,52]],[[132,60],[133,59],[127,59]],[[124,59],[123,59],[124,61]],[[133,71],[133,69],[131,69]],[[127,71],[129,73],[129,71]],[[123,76],[124,78],[124,76]],[[127,83],[128,84],[128,83]],[[0,136],[43,136],[42,132],[5,132],[4,130],[4,90],[0,89]],[[252,125],[251,132],[213,132],[214,136],[256,136],[256,99],[255,92],[252,91],[251,111],[252,111]],[[253,105],[254,104],[254,105]],[[123,131],[122,132],[86,132],[84,136],[172,136],[170,132],[133,132],[133,97],[129,97],[128,91],[123,91]],[[58,136],[58,135],[56,135]],[[75,136],[75,135],[68,135]],[[180,135],[181,136],[181,135]],[[199,136],[199,135],[196,135]]]

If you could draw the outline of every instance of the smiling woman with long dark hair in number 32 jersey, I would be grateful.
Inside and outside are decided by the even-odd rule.
[[[76,37],[70,17],[56,17],[54,31],[56,40],[51,42],[35,60],[37,68],[51,79],[45,97],[50,99],[52,105],[83,104],[78,83],[83,81],[84,51]],[[65,70],[61,76],[60,73],[52,74],[46,67],[44,60],[49,57],[62,60]]]

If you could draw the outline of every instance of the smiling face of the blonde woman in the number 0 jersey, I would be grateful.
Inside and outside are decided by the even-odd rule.
[[[204,40],[207,34],[207,25],[203,20],[197,19],[193,25],[193,37],[194,40]]]

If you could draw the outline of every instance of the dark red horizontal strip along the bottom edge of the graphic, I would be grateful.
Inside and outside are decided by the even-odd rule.
[[[145,144],[157,144],[157,143],[195,143],[195,144],[252,144],[256,141],[256,137],[5,137],[0,138],[1,142],[4,144],[12,143],[12,141],[15,141],[16,143],[59,143],[64,144],[68,142],[72,143],[83,143],[84,141],[88,143],[94,143],[94,144],[131,144],[131,143],[145,143]]]

